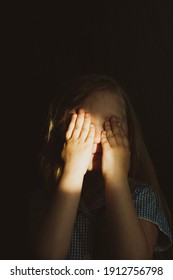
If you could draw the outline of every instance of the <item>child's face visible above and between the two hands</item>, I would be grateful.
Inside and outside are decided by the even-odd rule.
[[[93,144],[93,154],[88,166],[88,171],[101,170],[102,147],[101,131],[104,129],[104,123],[116,116],[127,133],[127,122],[125,104],[122,97],[110,91],[96,92],[87,98],[82,108],[91,115],[91,123],[95,126],[95,137]]]

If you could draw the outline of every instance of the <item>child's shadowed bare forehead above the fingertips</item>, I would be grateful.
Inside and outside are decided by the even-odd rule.
[[[99,91],[90,95],[83,103],[86,111],[94,116],[108,118],[112,115],[125,117],[123,97],[110,91]]]

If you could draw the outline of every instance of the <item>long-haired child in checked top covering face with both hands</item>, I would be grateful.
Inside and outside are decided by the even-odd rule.
[[[46,190],[32,198],[41,259],[153,259],[170,215],[130,101],[107,76],[79,77],[51,107]]]

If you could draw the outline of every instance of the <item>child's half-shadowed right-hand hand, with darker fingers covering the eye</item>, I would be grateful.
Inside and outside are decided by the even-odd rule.
[[[130,168],[128,137],[116,117],[106,121],[104,128],[101,133],[102,174],[109,182],[122,182],[127,180]]]

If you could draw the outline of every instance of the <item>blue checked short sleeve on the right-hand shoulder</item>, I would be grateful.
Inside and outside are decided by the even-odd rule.
[[[149,230],[151,224],[152,228],[154,228],[153,225],[157,228],[156,251],[168,249],[172,243],[172,233],[161,196],[145,182],[130,179],[129,185],[136,212],[142,224]]]

